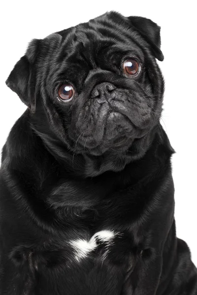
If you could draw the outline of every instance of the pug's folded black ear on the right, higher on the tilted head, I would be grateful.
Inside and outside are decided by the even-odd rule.
[[[153,21],[140,16],[129,16],[130,24],[134,29],[142,35],[142,37],[151,46],[151,50],[156,59],[164,60],[164,55],[160,49],[161,37],[160,27]]]

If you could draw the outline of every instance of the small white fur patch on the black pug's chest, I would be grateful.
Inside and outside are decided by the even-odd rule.
[[[74,248],[75,259],[80,262],[98,247],[98,241],[99,243],[107,243],[108,248],[116,235],[114,231],[103,230],[94,234],[90,240],[77,239],[70,241],[69,244]]]

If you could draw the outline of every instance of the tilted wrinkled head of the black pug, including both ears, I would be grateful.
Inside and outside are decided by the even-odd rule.
[[[160,28],[111,12],[34,39],[7,85],[31,108],[40,134],[75,153],[124,152],[162,112],[155,58],[163,60]]]

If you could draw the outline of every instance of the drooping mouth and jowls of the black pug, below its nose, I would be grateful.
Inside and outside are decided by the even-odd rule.
[[[74,149],[78,153],[91,153],[101,155],[107,150],[125,151],[135,138],[140,138],[144,133],[139,132],[126,115],[109,110],[95,123],[92,131],[82,129],[74,140]],[[142,131],[142,130],[141,130]]]

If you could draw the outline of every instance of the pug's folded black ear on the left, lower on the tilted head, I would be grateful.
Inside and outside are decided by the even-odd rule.
[[[6,85],[18,94],[20,99],[35,113],[35,67],[40,40],[33,39],[26,54],[16,63]]]

